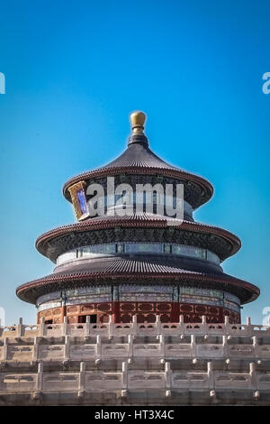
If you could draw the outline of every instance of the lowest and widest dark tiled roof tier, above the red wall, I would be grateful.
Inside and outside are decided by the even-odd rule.
[[[204,284],[215,282],[224,289],[224,285],[230,285],[237,288],[243,303],[255,300],[259,294],[259,290],[253,284],[231,277],[223,272],[195,272],[181,267],[181,261],[169,258],[158,257],[151,258],[123,258],[123,257],[107,257],[101,259],[93,259],[80,263],[76,266],[68,265],[61,267],[61,272],[54,272],[35,281],[27,282],[17,289],[17,295],[26,301],[35,302],[38,296],[38,288],[40,286],[48,286],[49,290],[53,290],[51,285],[77,282],[86,282],[89,284],[96,279],[107,279],[112,281],[143,281],[143,279],[153,278],[154,281],[167,278],[176,279],[176,281],[201,281]],[[100,280],[100,281],[101,281]],[[34,290],[34,291],[32,291]],[[33,294],[33,292],[35,294]]]

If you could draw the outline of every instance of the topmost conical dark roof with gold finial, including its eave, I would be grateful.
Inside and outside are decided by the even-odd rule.
[[[180,168],[170,165],[160,159],[157,154],[148,147],[148,138],[144,134],[144,123],[146,115],[142,112],[133,112],[130,115],[130,124],[132,132],[129,137],[127,149],[114,161],[98,168],[94,171],[86,171],[82,174],[67,180],[63,188],[63,193],[67,200],[71,200],[68,188],[79,181],[86,181],[98,177],[114,176],[119,174],[140,174],[140,175],[160,175],[184,180],[193,183],[200,189],[200,201],[198,205],[207,202],[213,193],[213,187],[208,180],[193,173],[184,171]]]

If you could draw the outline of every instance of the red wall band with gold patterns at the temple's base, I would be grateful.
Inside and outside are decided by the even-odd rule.
[[[124,299],[111,302],[90,302],[79,303],[79,300],[69,303],[62,308],[43,309],[39,311],[38,319],[45,318],[46,322],[60,323],[64,316],[67,316],[68,322],[85,322],[87,315],[94,319],[94,322],[103,323],[109,320],[112,315],[113,322],[130,323],[133,316],[136,316],[138,322],[154,322],[157,315],[160,315],[161,322],[175,322],[180,315],[184,316],[184,322],[200,322],[202,315],[206,316],[207,322],[216,323],[229,316],[230,322],[238,323],[240,316],[237,311],[224,309],[220,306],[214,306],[210,303],[189,303],[155,301],[147,294],[144,299],[132,301]]]

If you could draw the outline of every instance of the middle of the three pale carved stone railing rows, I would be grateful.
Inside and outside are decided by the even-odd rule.
[[[134,339],[129,335],[126,342],[113,342],[113,339],[106,337],[103,337],[101,342],[101,336],[94,336],[91,343],[81,343],[77,342],[74,336],[65,336],[62,343],[49,343],[47,337],[36,336],[34,339],[27,339],[27,344],[24,337],[6,337],[3,346],[0,346],[0,361],[93,361],[132,357],[270,359],[270,338],[266,344],[259,345],[257,336],[250,337],[249,344],[239,344],[238,338],[234,341],[234,337],[231,337],[228,339],[228,336],[222,336],[216,343],[207,343],[207,340],[197,340],[193,335],[190,342],[186,343],[181,342],[179,336],[175,336],[170,337],[168,343],[166,336],[161,335],[158,336],[157,343],[153,343],[145,342],[141,336]],[[173,338],[175,340],[172,340]]]

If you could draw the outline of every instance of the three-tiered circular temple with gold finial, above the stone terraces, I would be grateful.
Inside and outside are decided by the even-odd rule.
[[[169,165],[148,147],[145,115],[130,115],[127,149],[114,161],[68,180],[63,194],[72,203],[77,222],[40,235],[36,247],[55,263],[54,271],[17,289],[20,299],[36,305],[38,322],[129,323],[137,321],[220,323],[240,322],[241,305],[257,299],[258,288],[223,272],[221,263],[238,252],[236,235],[193,219],[193,211],[213,193],[202,177]],[[108,192],[114,187],[137,185],[184,188],[183,222],[166,216],[166,208],[154,190],[145,190],[139,211],[127,207],[127,197]],[[94,186],[95,185],[95,186]],[[103,188],[102,195],[89,188]],[[98,191],[98,189],[97,189]],[[101,191],[102,192],[102,191]],[[117,190],[116,190],[117,193]],[[105,213],[90,213],[98,199]],[[153,210],[146,198],[152,196]],[[166,195],[165,195],[166,196]],[[114,202],[112,201],[114,200]],[[132,200],[132,199],[131,199]],[[96,205],[97,205],[96,200]],[[132,205],[132,201],[130,201]],[[117,213],[119,209],[124,213]],[[168,224],[169,223],[169,224]]]

